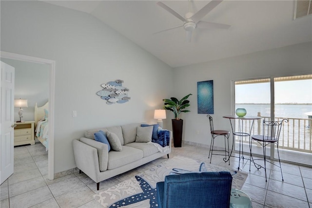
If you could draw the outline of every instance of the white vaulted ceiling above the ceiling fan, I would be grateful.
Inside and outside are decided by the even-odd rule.
[[[229,29],[195,28],[191,42],[183,21],[154,0],[45,1],[89,13],[172,67],[185,66],[312,41],[312,15],[293,20],[292,0],[224,0],[203,21]],[[162,1],[180,16],[210,1]]]

